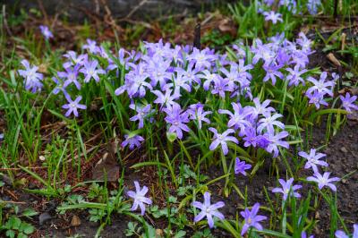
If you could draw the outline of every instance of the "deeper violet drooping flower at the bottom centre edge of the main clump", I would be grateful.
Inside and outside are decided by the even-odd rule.
[[[168,105],[163,111],[166,112],[166,123],[170,123],[169,132],[175,132],[178,139],[183,138],[183,132],[189,132],[190,129],[185,123],[189,123],[189,115],[183,112],[179,104]]]

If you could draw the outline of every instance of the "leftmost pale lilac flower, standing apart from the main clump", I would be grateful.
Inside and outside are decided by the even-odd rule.
[[[42,79],[44,75],[37,72],[38,66],[30,66],[29,61],[21,60],[21,64],[25,67],[25,70],[19,70],[19,74],[24,79],[25,89],[30,90],[32,93],[41,91],[42,89]]]

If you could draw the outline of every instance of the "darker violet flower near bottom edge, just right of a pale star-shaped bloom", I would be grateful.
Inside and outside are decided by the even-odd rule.
[[[251,210],[245,208],[244,211],[240,212],[241,216],[245,219],[241,235],[246,234],[250,227],[255,227],[259,231],[263,229],[262,225],[260,225],[260,221],[266,220],[268,217],[257,215],[259,209],[260,203],[257,202],[253,205]]]

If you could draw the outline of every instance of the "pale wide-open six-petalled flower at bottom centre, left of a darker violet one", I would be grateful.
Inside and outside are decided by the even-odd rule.
[[[224,206],[224,201],[218,201],[217,203],[211,204],[210,193],[208,191],[205,191],[203,203],[199,201],[192,202],[192,207],[199,208],[201,210],[200,213],[194,217],[194,222],[199,222],[204,217],[207,217],[209,227],[214,227],[213,217],[217,217],[219,220],[225,219],[224,215],[221,212],[217,211],[218,208],[223,208]]]

